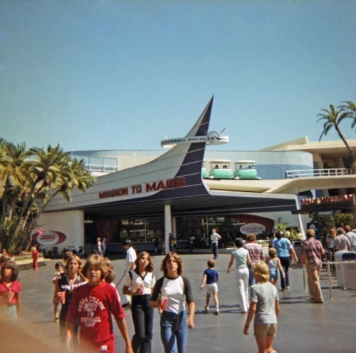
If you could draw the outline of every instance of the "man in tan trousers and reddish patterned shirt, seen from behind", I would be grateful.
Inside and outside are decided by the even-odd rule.
[[[325,254],[322,243],[315,239],[313,229],[308,229],[307,240],[303,243],[302,264],[307,268],[310,300],[323,303],[323,293],[320,287],[321,257]]]

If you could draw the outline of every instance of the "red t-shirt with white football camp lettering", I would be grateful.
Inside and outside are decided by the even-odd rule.
[[[73,290],[66,322],[80,325],[80,340],[96,347],[107,346],[107,352],[115,352],[111,314],[115,319],[125,317],[117,291],[102,282],[92,287],[88,284]]]

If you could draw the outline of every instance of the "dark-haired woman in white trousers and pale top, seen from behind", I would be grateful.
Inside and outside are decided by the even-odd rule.
[[[241,237],[238,237],[235,240],[235,245],[237,247],[231,253],[230,262],[227,267],[227,273],[230,273],[231,266],[236,263],[236,282],[238,287],[238,296],[240,302],[240,309],[242,313],[247,312],[248,310],[248,274],[249,270],[247,265],[251,264],[250,255],[248,254],[248,250],[244,249],[244,241]]]

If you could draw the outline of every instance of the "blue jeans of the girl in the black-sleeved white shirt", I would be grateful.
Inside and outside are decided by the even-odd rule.
[[[164,353],[185,353],[187,338],[187,312],[162,312],[161,339]]]

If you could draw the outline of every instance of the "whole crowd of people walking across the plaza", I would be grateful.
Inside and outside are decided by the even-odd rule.
[[[219,242],[221,236],[213,230],[211,240]],[[302,242],[300,260],[308,276],[310,302],[323,303],[320,287],[320,270],[323,256],[330,260],[335,252],[356,249],[356,234],[351,227],[332,228],[326,237],[326,249],[315,239],[315,231],[308,229]],[[78,255],[65,252],[61,262],[56,262],[53,319],[58,322],[59,337],[68,352],[84,349],[87,352],[115,352],[112,327],[114,317],[125,342],[125,352],[152,352],[155,308],[160,319],[160,338],[164,352],[187,351],[189,329],[194,328],[195,304],[192,285],[184,275],[184,263],[177,252],[164,256],[156,280],[155,268],[148,252],[138,255],[130,240],[124,242],[125,270],[115,285],[112,262],[104,257],[103,243],[98,238],[97,252],[83,264]],[[217,246],[212,248],[214,258],[207,260],[202,270],[200,290],[206,287],[204,312],[209,312],[211,297],[214,314],[219,315],[219,272]],[[325,251],[326,250],[326,251]],[[253,321],[254,335],[259,353],[273,353],[279,312],[278,290],[289,290],[290,262],[298,262],[293,245],[281,230],[275,236],[265,258],[256,235],[248,234],[246,242],[235,240],[226,273],[235,265],[235,277],[240,311],[245,314],[244,334],[248,334]],[[36,269],[37,267],[33,267]],[[278,289],[278,280],[281,287]],[[120,283],[122,282],[122,291]],[[0,315],[16,322],[21,308],[19,268],[10,257],[1,263]],[[120,294],[125,300],[121,302]],[[58,314],[58,307],[61,307]],[[130,309],[135,332],[127,328],[124,309]]]

